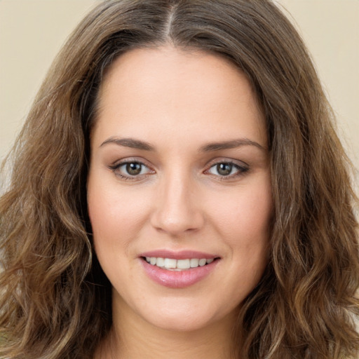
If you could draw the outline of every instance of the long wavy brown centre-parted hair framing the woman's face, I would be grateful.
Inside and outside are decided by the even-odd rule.
[[[111,62],[163,43],[231,60],[266,116],[271,255],[233,328],[236,357],[356,358],[350,165],[302,39],[269,0],[104,1],[79,24],[29,112],[0,200],[0,355],[92,358],[109,331],[111,285],[87,215],[88,138]]]

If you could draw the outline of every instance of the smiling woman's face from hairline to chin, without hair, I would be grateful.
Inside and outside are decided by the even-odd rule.
[[[236,67],[170,46],[121,55],[88,175],[114,316],[170,330],[232,318],[266,266],[270,178],[264,118]]]

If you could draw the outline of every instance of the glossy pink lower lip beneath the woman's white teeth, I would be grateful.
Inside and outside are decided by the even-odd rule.
[[[165,287],[184,288],[194,285],[208,276],[217,266],[219,259],[205,266],[197,266],[196,268],[185,269],[184,271],[168,271],[158,266],[152,266],[144,259],[141,259],[141,262],[147,276],[154,280],[154,282]]]

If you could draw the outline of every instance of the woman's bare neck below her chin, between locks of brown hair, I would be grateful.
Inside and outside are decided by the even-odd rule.
[[[231,359],[233,313],[206,327],[178,331],[156,327],[133,311],[116,311],[96,359]]]

